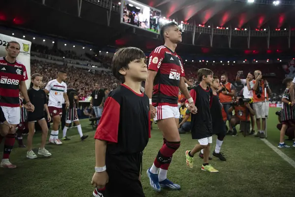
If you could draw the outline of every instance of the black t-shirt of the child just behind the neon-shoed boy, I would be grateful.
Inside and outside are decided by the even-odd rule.
[[[212,117],[213,134],[226,134],[226,127],[222,118],[221,105],[218,95],[211,94],[210,97],[210,113]]]

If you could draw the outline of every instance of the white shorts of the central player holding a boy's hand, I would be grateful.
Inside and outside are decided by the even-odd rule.
[[[179,118],[180,113],[178,107],[172,107],[169,105],[162,105],[156,107],[156,117],[154,121],[163,120],[167,118]]]

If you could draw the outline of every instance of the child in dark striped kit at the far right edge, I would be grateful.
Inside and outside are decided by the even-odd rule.
[[[292,78],[286,78],[283,81],[283,84],[286,86],[286,89],[283,93],[283,107],[281,112],[281,118],[282,118],[282,128],[280,131],[280,143],[278,144],[279,148],[290,148],[288,146],[284,139],[285,139],[285,133],[288,129],[288,122],[295,119],[295,111],[293,107],[293,103],[291,102],[292,99],[290,98],[290,86],[292,84]],[[293,142],[293,146],[295,147],[295,142]]]

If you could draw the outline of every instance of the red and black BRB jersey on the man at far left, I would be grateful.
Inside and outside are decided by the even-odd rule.
[[[27,79],[27,70],[22,63],[11,64],[5,57],[0,58],[0,106],[20,107],[20,83]]]

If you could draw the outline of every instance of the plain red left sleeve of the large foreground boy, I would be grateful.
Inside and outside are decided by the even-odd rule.
[[[120,104],[113,97],[108,97],[106,99],[102,116],[96,129],[94,138],[117,143],[119,119]]]

